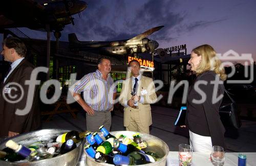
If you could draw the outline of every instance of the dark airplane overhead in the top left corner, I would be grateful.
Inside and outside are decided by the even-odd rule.
[[[31,30],[60,32],[67,24],[74,25],[72,15],[87,8],[80,0],[41,1],[8,0],[0,2],[0,29],[28,27]]]

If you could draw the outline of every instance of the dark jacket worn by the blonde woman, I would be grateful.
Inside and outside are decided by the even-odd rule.
[[[202,136],[210,136],[212,146],[218,145],[225,148],[225,128],[219,115],[222,98],[218,102],[212,103],[214,85],[210,84],[210,82],[214,81],[216,76],[217,74],[213,71],[204,72],[199,75],[194,84],[189,87],[187,96],[186,125],[189,130],[194,133]],[[218,80],[220,80],[219,77]],[[203,84],[199,84],[198,88],[206,95],[206,100],[201,104],[195,104],[195,102],[192,102],[193,99],[202,99],[202,95],[195,90],[196,85],[199,83],[198,81],[203,82]],[[207,85],[204,85],[206,83]],[[217,88],[217,96],[215,97],[219,97],[225,92],[223,84],[219,84]]]

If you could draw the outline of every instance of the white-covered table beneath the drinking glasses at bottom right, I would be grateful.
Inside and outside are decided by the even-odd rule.
[[[238,154],[239,153],[225,153],[224,166],[238,165]],[[246,155],[246,166],[256,165],[256,153],[243,153]],[[214,164],[209,160],[210,153],[207,152],[193,152],[192,165],[193,166],[212,166]],[[86,166],[84,163],[86,156],[84,153],[81,154],[80,160],[77,166]],[[179,166],[179,155],[178,152],[170,151],[166,158],[166,166]]]

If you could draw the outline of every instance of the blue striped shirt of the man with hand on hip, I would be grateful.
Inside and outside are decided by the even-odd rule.
[[[103,79],[99,70],[84,75],[71,88],[75,93],[83,92],[86,103],[96,111],[109,110],[113,106],[113,93],[116,93],[116,86],[110,74]]]

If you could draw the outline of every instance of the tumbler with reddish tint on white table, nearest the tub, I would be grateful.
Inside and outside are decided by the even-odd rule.
[[[187,144],[179,145],[179,165],[190,166],[192,160],[193,148]]]

